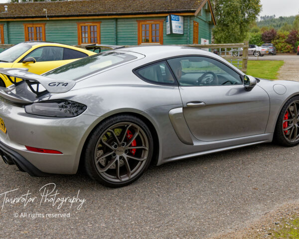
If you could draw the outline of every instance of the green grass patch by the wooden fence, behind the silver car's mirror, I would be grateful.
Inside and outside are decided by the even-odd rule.
[[[284,61],[248,61],[247,75],[276,80]]]

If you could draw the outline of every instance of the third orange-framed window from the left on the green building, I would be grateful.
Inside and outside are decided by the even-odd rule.
[[[101,43],[101,22],[79,22],[78,44],[100,44]]]

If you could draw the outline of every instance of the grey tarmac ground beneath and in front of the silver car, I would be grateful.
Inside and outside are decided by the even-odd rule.
[[[82,173],[34,178],[1,161],[0,238],[199,239],[240,229],[298,199],[298,155],[299,146],[245,147],[151,166],[119,189]],[[11,200],[25,194],[26,202]],[[77,202],[61,203],[68,196]]]

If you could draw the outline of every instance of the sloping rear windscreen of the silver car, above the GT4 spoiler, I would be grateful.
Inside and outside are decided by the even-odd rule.
[[[119,65],[136,58],[136,56],[128,53],[111,51],[103,52],[58,67],[45,73],[44,76],[54,79],[77,80],[95,72],[104,70],[105,68]]]

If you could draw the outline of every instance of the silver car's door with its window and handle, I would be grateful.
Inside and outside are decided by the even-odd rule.
[[[246,91],[236,71],[212,58],[187,56],[167,62],[179,82],[184,118],[198,140],[265,133],[270,100],[258,85]]]

